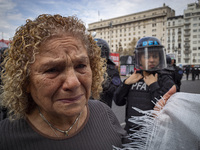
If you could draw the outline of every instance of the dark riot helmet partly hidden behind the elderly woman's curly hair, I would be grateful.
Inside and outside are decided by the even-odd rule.
[[[106,58],[107,60],[109,59],[110,56],[110,48],[108,43],[99,38],[94,39],[97,42],[97,45],[101,48],[101,57]]]

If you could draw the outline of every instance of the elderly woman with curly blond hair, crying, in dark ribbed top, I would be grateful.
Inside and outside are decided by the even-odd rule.
[[[98,98],[105,61],[76,17],[27,20],[4,61],[0,149],[109,150],[126,132]]]

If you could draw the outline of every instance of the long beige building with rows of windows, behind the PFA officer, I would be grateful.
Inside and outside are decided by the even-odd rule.
[[[163,4],[162,7],[117,18],[90,23],[88,31],[96,32],[96,38],[106,40],[111,52],[130,49],[130,43],[145,36],[154,36],[166,45],[167,18],[175,16],[175,11]]]

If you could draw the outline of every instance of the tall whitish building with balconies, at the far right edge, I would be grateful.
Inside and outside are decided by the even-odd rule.
[[[184,63],[200,64],[200,1],[184,10]]]

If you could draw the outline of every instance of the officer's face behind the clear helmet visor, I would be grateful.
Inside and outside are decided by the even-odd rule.
[[[143,69],[154,69],[159,65],[159,53],[158,52],[149,52],[148,56],[142,54],[141,56],[141,65]]]

